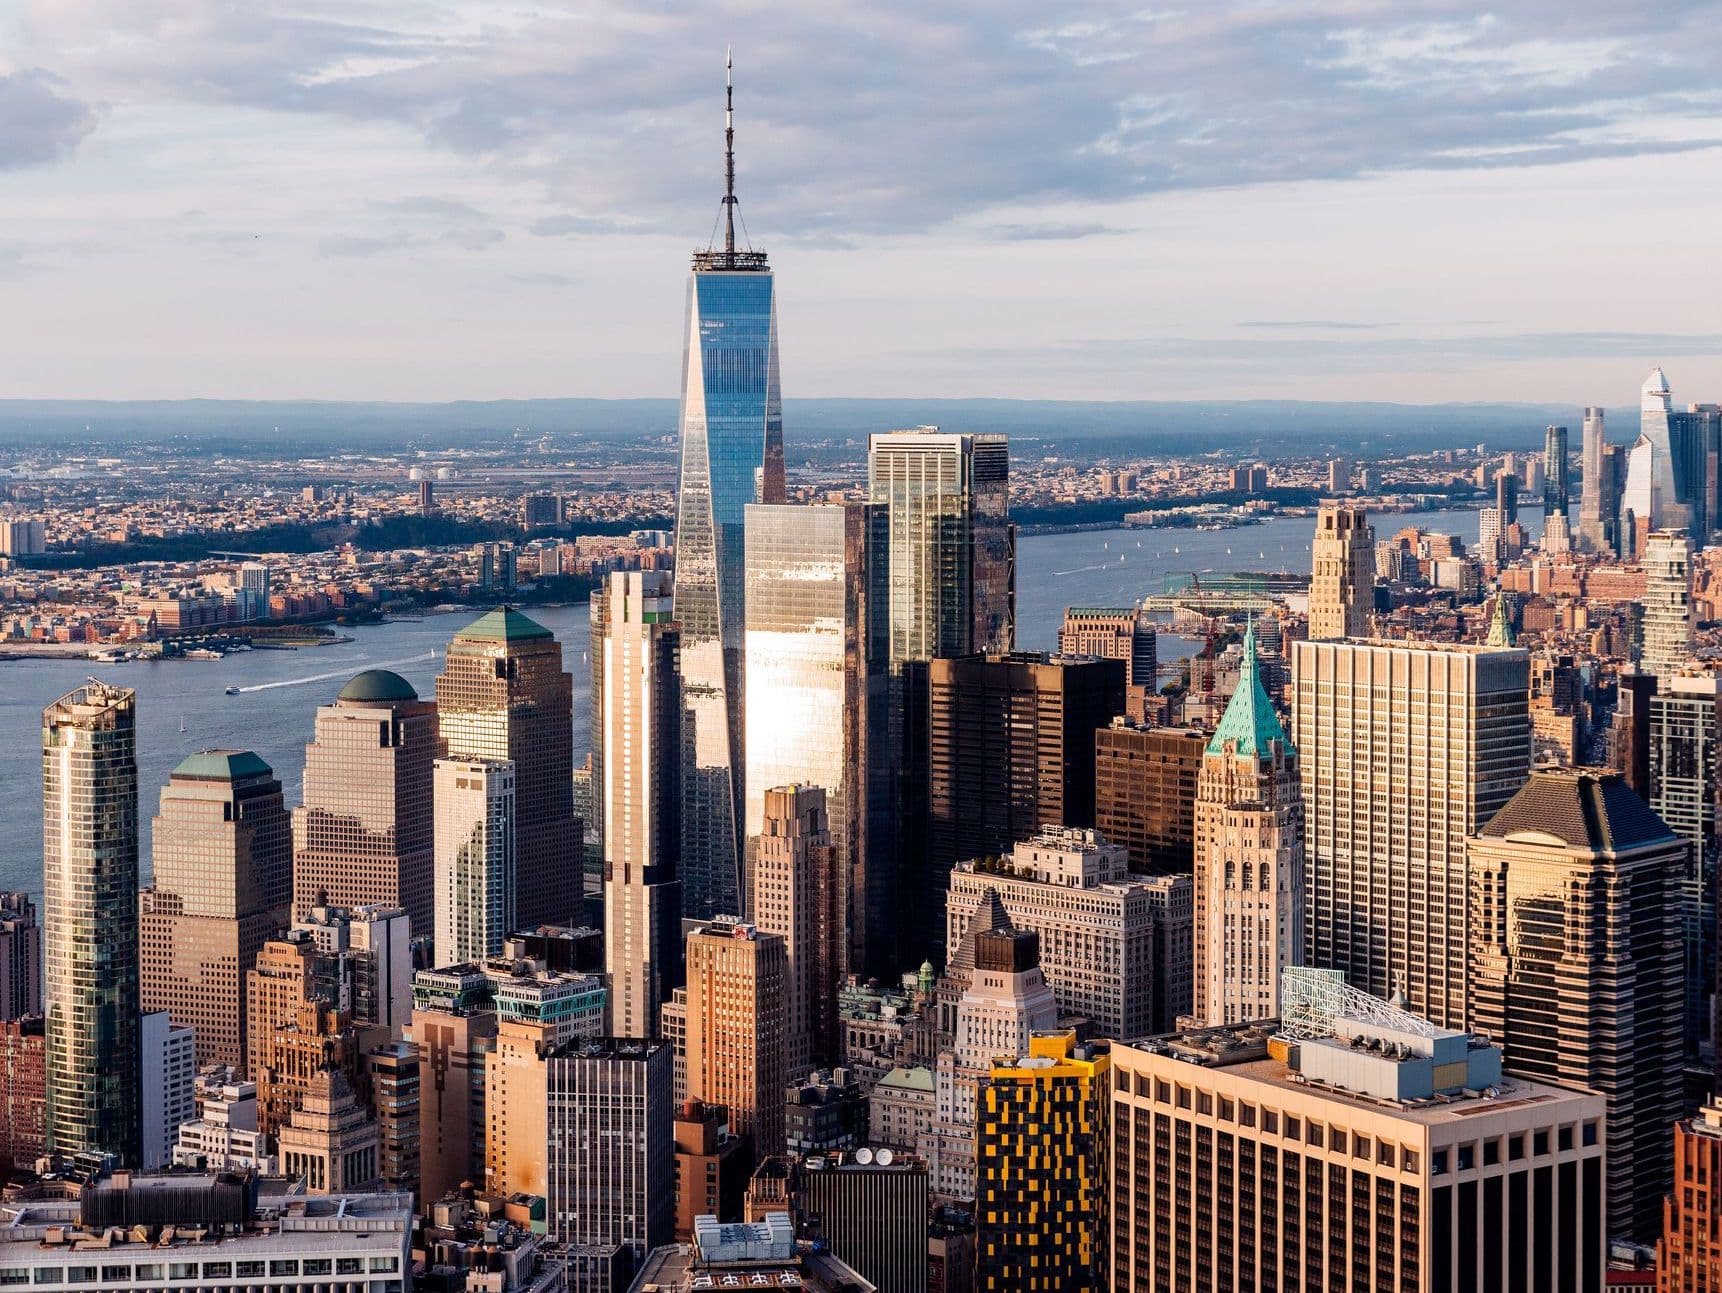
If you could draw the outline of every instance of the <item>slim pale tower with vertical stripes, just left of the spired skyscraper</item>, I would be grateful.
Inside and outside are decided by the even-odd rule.
[[[610,1030],[656,1036],[682,987],[682,632],[670,577],[615,572],[599,606],[604,813],[604,968]]]

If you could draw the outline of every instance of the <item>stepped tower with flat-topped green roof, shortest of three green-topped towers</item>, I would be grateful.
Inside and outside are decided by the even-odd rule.
[[[288,923],[293,837],[281,782],[251,751],[174,768],[138,918],[143,1009],[196,1033],[198,1064],[246,1061],[245,976]]]

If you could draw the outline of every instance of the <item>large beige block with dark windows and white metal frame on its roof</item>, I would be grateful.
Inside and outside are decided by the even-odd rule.
[[[1331,978],[1298,995],[1278,1028],[1112,1045],[1114,1293],[1601,1288],[1600,1095]]]

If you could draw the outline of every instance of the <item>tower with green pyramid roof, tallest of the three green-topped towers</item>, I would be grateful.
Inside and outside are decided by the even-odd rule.
[[[515,919],[568,925],[585,840],[573,816],[573,678],[554,634],[510,606],[479,616],[448,644],[436,704],[451,759],[515,764]]]

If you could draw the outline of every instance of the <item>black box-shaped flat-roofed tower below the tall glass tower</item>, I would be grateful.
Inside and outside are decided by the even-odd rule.
[[[904,894],[944,937],[951,868],[997,857],[1042,826],[1093,825],[1095,732],[1124,709],[1124,663],[1018,651],[928,666],[930,830],[921,885]]]

